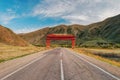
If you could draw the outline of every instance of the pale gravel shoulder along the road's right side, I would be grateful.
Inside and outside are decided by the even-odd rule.
[[[73,51],[73,50],[70,50],[70,49],[67,49],[67,50]],[[77,55],[84,58],[85,60],[99,66],[100,68],[104,69],[105,71],[107,71],[107,72],[109,72],[109,73],[111,73],[113,75],[120,76],[120,68],[119,67],[111,65],[111,64],[103,62],[103,61],[100,61],[100,60],[95,59],[93,57],[90,57],[88,55],[80,54],[79,52],[75,52],[75,51],[73,51],[73,52],[75,54],[77,53]]]

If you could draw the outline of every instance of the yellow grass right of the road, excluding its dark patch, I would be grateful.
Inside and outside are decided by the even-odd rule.
[[[115,66],[118,66],[120,67],[120,61],[116,61],[114,59],[109,59],[109,58],[105,58],[105,57],[102,57],[102,56],[99,56],[99,55],[96,55],[95,53],[99,53],[100,54],[107,54],[109,55],[108,53],[109,52],[114,52],[114,54],[120,54],[120,49],[113,49],[113,50],[109,50],[109,49],[89,49],[89,48],[75,48],[74,51],[80,53],[80,54],[85,54],[85,55],[88,55],[88,56],[91,56],[91,57],[94,57],[98,60],[101,60],[101,61],[104,61],[104,62],[107,62],[109,64],[112,64],[112,65],[115,65]]]

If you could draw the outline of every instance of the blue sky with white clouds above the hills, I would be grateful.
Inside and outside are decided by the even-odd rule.
[[[120,14],[120,0],[0,0],[0,24],[16,33],[98,22]]]

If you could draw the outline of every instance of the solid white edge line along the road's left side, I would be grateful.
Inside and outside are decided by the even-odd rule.
[[[34,63],[34,62],[36,62],[36,61],[38,61],[38,60],[42,59],[42,58],[43,58],[43,57],[45,57],[45,56],[46,56],[46,55],[43,55],[43,56],[41,56],[40,58],[37,58],[37,59],[35,59],[35,60],[31,61],[30,63],[28,63],[28,64],[24,65],[23,67],[21,67],[21,68],[19,68],[19,69],[15,70],[14,72],[12,72],[12,73],[10,73],[10,74],[6,75],[5,77],[1,78],[0,80],[4,80],[4,79],[6,79],[6,78],[8,78],[8,77],[12,76],[12,75],[13,75],[13,74],[15,74],[16,72],[18,72],[18,71],[20,71],[20,70],[22,70],[22,69],[26,68],[27,66],[29,66],[29,65],[31,65],[32,63]]]

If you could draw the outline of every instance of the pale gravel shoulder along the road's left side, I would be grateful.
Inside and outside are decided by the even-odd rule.
[[[50,51],[50,50],[41,51],[41,52],[34,53],[28,56],[24,56],[24,57],[20,57],[20,58],[16,58],[13,60],[0,63],[0,78],[30,63],[36,58],[39,58],[40,56],[44,55],[44,53],[47,51]]]

